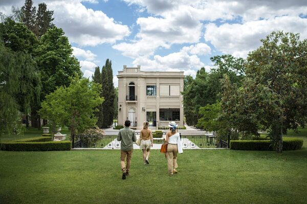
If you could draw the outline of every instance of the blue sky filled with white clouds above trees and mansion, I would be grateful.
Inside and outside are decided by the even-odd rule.
[[[83,75],[112,60],[113,82],[127,67],[143,71],[196,72],[213,66],[210,57],[246,58],[272,31],[307,38],[306,0],[34,0],[54,11],[53,23],[70,40]],[[11,13],[25,0],[0,0]]]

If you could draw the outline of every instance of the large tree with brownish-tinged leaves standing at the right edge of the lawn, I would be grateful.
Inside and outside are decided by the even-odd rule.
[[[240,131],[270,129],[281,152],[282,135],[307,122],[307,39],[277,31],[261,42],[247,58],[243,86],[235,89],[225,79],[223,115]]]

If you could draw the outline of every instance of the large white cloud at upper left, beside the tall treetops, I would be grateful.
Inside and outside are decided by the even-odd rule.
[[[98,3],[97,0],[85,0],[90,3]],[[5,3],[6,2],[6,3]],[[0,2],[0,10],[8,14],[10,13],[7,2]],[[25,1],[14,0],[20,8],[24,6]],[[95,46],[102,43],[115,43],[117,40],[123,40],[130,34],[127,25],[117,23],[113,18],[108,17],[102,11],[94,11],[87,9],[81,4],[81,0],[36,0],[34,6],[45,2],[49,10],[54,11],[53,23],[62,28],[69,40],[81,46]]]

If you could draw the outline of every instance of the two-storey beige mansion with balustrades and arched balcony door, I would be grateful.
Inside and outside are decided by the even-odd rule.
[[[131,121],[131,127],[141,129],[145,120],[150,126],[168,126],[183,120],[183,71],[141,71],[127,67],[118,72],[118,124]],[[155,129],[155,128],[153,128]]]

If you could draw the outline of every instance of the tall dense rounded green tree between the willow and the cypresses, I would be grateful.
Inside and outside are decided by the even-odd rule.
[[[35,54],[41,73],[41,99],[59,86],[69,86],[71,77],[82,76],[79,62],[73,56],[73,49],[62,29],[52,27],[41,36]],[[36,118],[39,120],[37,111],[40,109],[40,103],[33,104],[32,109],[31,118],[35,124]],[[40,127],[40,123],[36,125]]]

